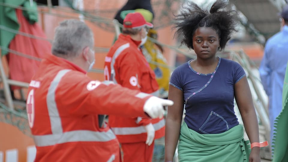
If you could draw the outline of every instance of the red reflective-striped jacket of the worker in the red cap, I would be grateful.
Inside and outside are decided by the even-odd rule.
[[[134,41],[130,36],[120,34],[105,58],[104,78],[113,80],[123,87],[157,96],[158,83],[155,73],[138,48],[139,44],[140,41]],[[163,137],[164,119],[109,116],[109,125],[120,143],[146,141],[147,133],[144,126],[150,122],[155,128],[155,139]]]

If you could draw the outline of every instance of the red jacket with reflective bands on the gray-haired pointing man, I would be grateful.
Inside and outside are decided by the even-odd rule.
[[[98,114],[147,117],[151,95],[101,83],[67,60],[50,55],[33,76],[27,113],[37,149],[35,161],[120,161],[119,142]]]

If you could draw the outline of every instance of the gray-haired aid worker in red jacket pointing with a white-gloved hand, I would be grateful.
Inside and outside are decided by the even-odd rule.
[[[79,20],[55,30],[52,54],[29,85],[27,114],[37,149],[36,162],[119,162],[115,134],[99,114],[152,118],[163,116],[172,101],[99,82],[86,75],[95,62],[94,36]]]

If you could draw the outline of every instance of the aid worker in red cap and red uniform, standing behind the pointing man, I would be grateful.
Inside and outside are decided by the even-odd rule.
[[[147,28],[152,27],[140,13],[127,14],[123,21],[123,34],[119,35],[105,58],[105,80],[158,95],[155,73],[139,48],[147,40]],[[109,116],[109,125],[121,144],[124,162],[152,161],[154,139],[164,137],[165,134],[163,118],[151,120]]]

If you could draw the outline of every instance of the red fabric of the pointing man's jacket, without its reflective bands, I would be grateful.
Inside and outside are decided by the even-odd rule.
[[[55,89],[55,102],[61,117],[63,132],[109,131],[109,126],[99,128],[98,114],[147,117],[143,112],[143,106],[151,96],[143,99],[137,98],[135,95],[139,91],[129,90],[116,84],[100,84],[95,89],[88,90],[87,87],[92,80],[84,70],[69,61],[49,55],[41,62],[28,88],[29,92],[34,90],[34,109],[31,111],[34,112],[34,125],[31,126],[33,136],[52,134],[47,109],[47,92],[57,73],[64,69],[70,69],[70,71],[61,78]],[[31,103],[31,100],[27,102]],[[121,109],[118,109],[119,107]],[[28,121],[31,122],[32,119],[29,114]],[[116,138],[107,142],[76,141],[43,147],[37,146],[36,143],[36,149],[36,162],[106,162],[111,155],[116,156],[115,162],[121,161],[119,142]]]

